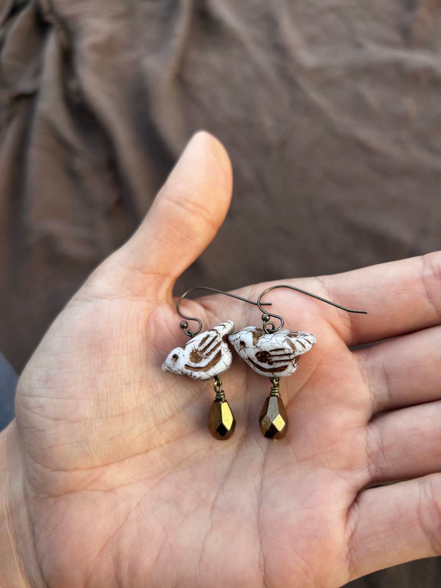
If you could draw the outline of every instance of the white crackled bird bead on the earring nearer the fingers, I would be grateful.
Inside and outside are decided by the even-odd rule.
[[[279,330],[265,333],[245,327],[232,333],[229,342],[248,365],[262,376],[290,376],[297,369],[299,356],[316,342],[311,333]]]

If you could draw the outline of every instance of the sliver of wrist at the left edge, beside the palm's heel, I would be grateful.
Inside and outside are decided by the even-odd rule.
[[[0,433],[0,588],[45,586],[26,507],[15,421]]]

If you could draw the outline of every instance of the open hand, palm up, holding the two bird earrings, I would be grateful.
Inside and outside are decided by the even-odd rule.
[[[206,426],[212,382],[162,372],[187,340],[173,284],[215,235],[231,186],[222,146],[198,133],[26,367],[2,437],[7,479],[13,466],[20,480],[22,585],[333,588],[441,553],[439,253],[286,282],[368,315],[268,293],[286,328],[317,337],[281,380],[279,442],[258,427],[269,380],[238,356],[223,376],[238,423],[226,442]],[[255,300],[268,285],[238,293]],[[261,324],[255,306],[225,296],[183,309],[205,329]]]

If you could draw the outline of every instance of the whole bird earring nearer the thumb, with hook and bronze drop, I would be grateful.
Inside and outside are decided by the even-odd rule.
[[[195,316],[185,316],[179,309],[182,300],[194,290],[209,290],[254,305],[257,305],[257,302],[242,298],[242,296],[230,294],[229,292],[223,292],[223,290],[208,288],[206,286],[196,286],[183,293],[176,303],[176,311],[184,319],[181,321],[181,329],[190,337],[190,340],[186,345],[171,350],[162,365],[162,369],[165,372],[179,373],[183,376],[192,377],[195,380],[215,380],[214,389],[216,396],[208,414],[208,429],[215,439],[225,440],[233,435],[236,419],[225,399],[222,380],[219,376],[228,370],[233,361],[233,355],[228,345],[228,336],[233,332],[234,323],[232,320],[225,320],[223,323],[219,323],[219,325],[201,333],[201,319]],[[270,302],[265,304],[270,305]],[[199,323],[198,329],[195,332],[188,328],[189,320],[195,320]]]

